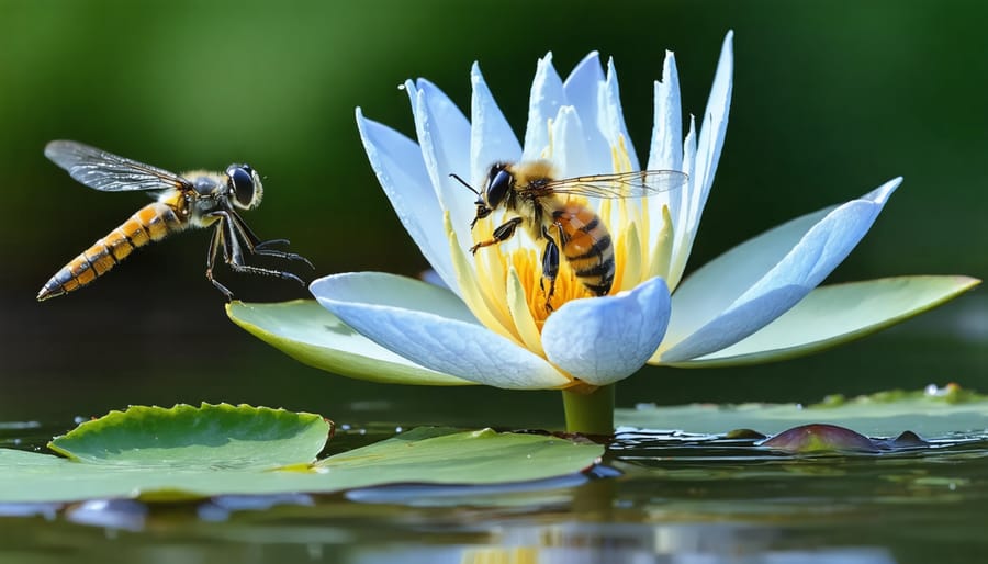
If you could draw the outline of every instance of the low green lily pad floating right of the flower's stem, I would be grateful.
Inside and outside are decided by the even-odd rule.
[[[797,404],[739,404],[618,409],[620,426],[642,429],[681,429],[686,432],[720,435],[732,429],[754,429],[775,435],[790,427],[811,424],[839,425],[868,437],[896,437],[914,431],[923,438],[956,432],[988,433],[988,399],[973,396],[958,401],[957,394],[898,392],[862,396],[805,407]]]

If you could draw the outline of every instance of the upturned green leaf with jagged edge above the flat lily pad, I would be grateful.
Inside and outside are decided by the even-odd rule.
[[[274,469],[314,462],[330,430],[318,415],[268,407],[132,406],[86,421],[48,447],[98,464]]]

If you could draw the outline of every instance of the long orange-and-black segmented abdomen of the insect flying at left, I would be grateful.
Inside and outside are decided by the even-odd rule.
[[[147,204],[55,273],[37,293],[37,300],[74,292],[112,270],[134,249],[161,240],[183,227],[171,206],[161,202]]]

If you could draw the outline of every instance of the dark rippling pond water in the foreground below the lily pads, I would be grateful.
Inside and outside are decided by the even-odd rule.
[[[336,448],[390,435],[364,431]],[[0,561],[978,562],[986,508],[985,441],[793,456],[624,432],[592,472],[537,484],[5,506]]]

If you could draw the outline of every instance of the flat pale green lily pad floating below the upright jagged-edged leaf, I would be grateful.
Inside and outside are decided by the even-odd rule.
[[[189,445],[176,449],[187,450]],[[138,464],[122,459],[112,464],[74,462],[0,449],[0,503],[126,497],[155,501],[234,494],[333,493],[395,483],[509,483],[579,472],[592,465],[604,448],[490,429],[416,429],[337,454],[312,467],[263,470],[215,459],[211,465],[194,461],[183,465],[176,460],[162,472],[160,465],[144,464],[147,459],[139,448],[128,452]],[[172,458],[167,450],[161,454]]]

